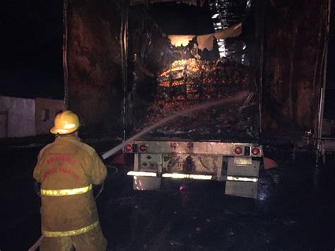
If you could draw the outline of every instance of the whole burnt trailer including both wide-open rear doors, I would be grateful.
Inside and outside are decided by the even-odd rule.
[[[256,197],[264,142],[292,142],[285,158],[329,151],[329,13],[329,0],[66,0],[66,107],[141,135],[124,147],[135,189],[205,177]]]

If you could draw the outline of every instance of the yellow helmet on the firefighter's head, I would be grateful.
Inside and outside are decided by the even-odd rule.
[[[76,113],[66,110],[54,118],[54,127],[50,129],[52,134],[71,134],[79,127],[79,118]]]

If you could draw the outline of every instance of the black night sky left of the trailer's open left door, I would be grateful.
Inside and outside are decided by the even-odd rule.
[[[0,95],[64,98],[62,1],[11,0],[0,8]]]

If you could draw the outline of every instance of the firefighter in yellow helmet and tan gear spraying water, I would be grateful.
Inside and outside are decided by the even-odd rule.
[[[33,177],[41,183],[40,250],[106,250],[92,185],[107,168],[95,150],[78,138],[78,116],[66,110],[50,129],[53,143],[40,151]]]

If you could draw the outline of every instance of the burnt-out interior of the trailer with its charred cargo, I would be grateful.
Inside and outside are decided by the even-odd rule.
[[[132,115],[128,122],[134,126],[133,134],[194,105],[224,99],[243,90],[251,92],[247,100],[182,116],[149,136],[199,140],[259,137],[259,88],[249,78],[252,66],[241,31],[232,35],[230,57],[220,57],[218,39],[214,39],[218,33],[212,22],[202,23],[210,24],[202,30],[208,34],[172,37],[161,30],[150,9],[133,6],[130,14],[129,33],[133,37],[129,37],[132,60],[128,68],[131,78],[126,115]],[[211,17],[211,13],[207,14],[203,20]],[[209,42],[204,42],[206,39]],[[236,46],[238,42],[242,44],[240,48]]]

